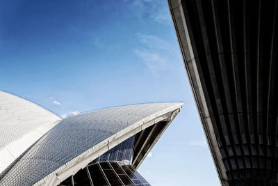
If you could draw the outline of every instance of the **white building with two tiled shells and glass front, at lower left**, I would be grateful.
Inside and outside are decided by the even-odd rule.
[[[62,119],[0,91],[0,185],[149,185],[136,170],[181,107],[134,104]]]

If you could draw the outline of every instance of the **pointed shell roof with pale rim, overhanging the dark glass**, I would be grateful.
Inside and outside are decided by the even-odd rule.
[[[96,157],[167,118],[182,103],[137,104],[63,119],[0,177],[0,185],[57,185]]]

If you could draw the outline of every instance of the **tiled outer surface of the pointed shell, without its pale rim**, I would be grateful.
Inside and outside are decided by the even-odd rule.
[[[142,119],[181,103],[137,104],[90,111],[63,119],[0,180],[0,185],[33,185],[74,157]]]

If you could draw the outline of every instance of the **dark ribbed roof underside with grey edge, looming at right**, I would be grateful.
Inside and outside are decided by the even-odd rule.
[[[222,185],[278,185],[277,1],[168,0]]]

